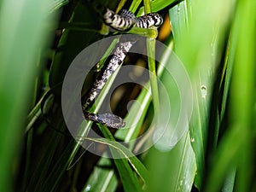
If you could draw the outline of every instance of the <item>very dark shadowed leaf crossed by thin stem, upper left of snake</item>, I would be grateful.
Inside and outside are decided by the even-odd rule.
[[[93,28],[94,32],[84,32],[83,26],[77,26],[81,28],[81,30],[66,29],[63,32],[49,73],[50,87],[60,84],[65,77],[67,68],[75,56],[78,55],[84,47],[94,43],[101,37],[98,32],[95,32],[95,29],[100,30],[101,21],[96,19],[96,12],[92,9],[92,5],[89,3],[75,3],[73,6],[75,6],[73,15],[68,21],[71,23],[70,26],[72,26],[73,23],[74,25],[76,23],[86,23],[89,26],[95,26],[95,24],[97,24],[97,26]]]

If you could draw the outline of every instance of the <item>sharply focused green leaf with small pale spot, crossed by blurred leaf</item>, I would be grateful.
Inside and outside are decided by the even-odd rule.
[[[192,15],[191,5],[188,1],[177,4],[175,7],[169,10],[170,20],[172,23],[172,32],[173,38],[175,41],[175,51],[179,58],[183,61],[183,53],[185,49],[190,49],[190,46],[183,46],[187,44],[184,42],[184,33],[189,31],[189,15]],[[191,45],[192,46],[192,45]],[[189,51],[189,50],[188,50]],[[188,53],[188,56],[192,56],[191,53]],[[193,73],[190,69],[189,63],[184,63],[188,73]],[[193,114],[189,122],[189,130],[191,136],[191,144],[195,151],[196,165],[197,165],[197,174],[195,176],[195,186],[201,189],[202,179],[204,177],[204,168],[205,168],[205,153],[207,148],[207,121],[208,121],[208,108],[211,90],[207,88],[211,85],[207,85],[206,82],[211,83],[210,76],[207,76],[207,73],[198,74],[200,78],[195,79],[194,83],[194,105],[193,105]],[[201,77],[203,76],[203,77]],[[190,76],[191,77],[191,76]],[[198,80],[198,81],[197,81]],[[206,90],[205,90],[206,89]],[[210,93],[209,93],[210,91]],[[204,95],[206,94],[206,95]]]

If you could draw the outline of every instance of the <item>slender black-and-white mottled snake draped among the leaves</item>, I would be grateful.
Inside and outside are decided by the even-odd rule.
[[[149,13],[147,15],[136,17],[131,11],[126,9],[121,10],[119,14],[115,14],[113,10],[107,9],[106,13],[103,15],[103,20],[108,26],[117,31],[127,31],[133,26],[140,28],[149,28],[154,26],[157,28],[163,22],[162,17],[157,13]],[[119,42],[119,44],[117,44],[117,48],[114,50],[113,56],[108,62],[108,66],[103,71],[102,76],[96,79],[87,97],[82,99],[84,119],[92,120],[111,128],[125,127],[125,120],[119,116],[111,113],[90,113],[87,108],[96,99],[96,96],[99,95],[110,76],[125,60],[125,56],[135,43],[136,40],[130,40]]]

